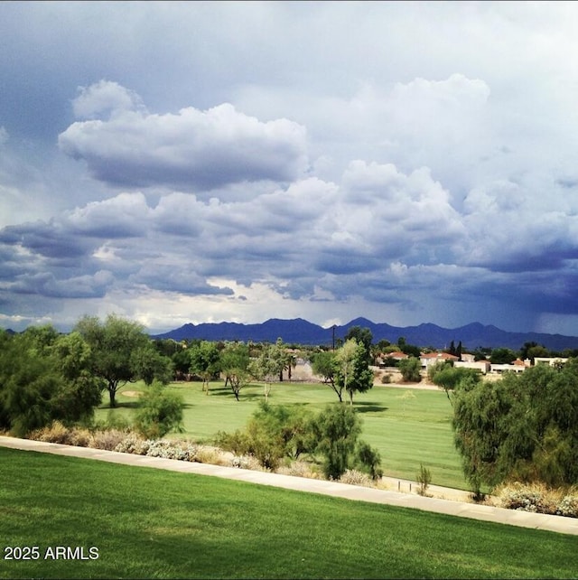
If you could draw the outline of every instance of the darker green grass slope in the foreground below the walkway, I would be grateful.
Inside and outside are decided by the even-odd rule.
[[[1,578],[570,578],[576,538],[0,448]],[[39,547],[31,561],[6,547]],[[47,559],[51,547],[98,559]],[[50,555],[51,553],[48,552]]]

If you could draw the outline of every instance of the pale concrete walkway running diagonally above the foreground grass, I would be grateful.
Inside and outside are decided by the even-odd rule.
[[[466,503],[456,500],[439,500],[426,498],[414,493],[402,493],[399,491],[376,490],[357,485],[349,485],[325,480],[312,480],[280,473],[256,472],[236,467],[222,467],[209,463],[189,463],[160,457],[145,457],[143,455],[122,454],[115,451],[102,449],[90,449],[87,447],[74,447],[71,445],[43,443],[29,439],[16,439],[15,437],[0,436],[0,446],[21,449],[24,451],[36,451],[49,454],[68,455],[70,457],[84,457],[96,459],[108,463],[123,463],[141,467],[154,467],[173,472],[198,473],[211,475],[241,482],[270,485],[287,490],[307,491],[321,493],[347,500],[369,501],[385,503],[403,508],[434,511],[451,516],[463,518],[482,519],[510,526],[523,528],[545,529],[562,534],[578,536],[578,519],[564,518],[563,516],[550,516],[547,514],[530,513],[527,511],[506,510],[491,506]]]

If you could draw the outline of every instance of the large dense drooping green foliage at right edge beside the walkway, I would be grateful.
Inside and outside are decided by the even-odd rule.
[[[464,380],[454,392],[455,444],[474,491],[508,480],[578,483],[578,361]]]

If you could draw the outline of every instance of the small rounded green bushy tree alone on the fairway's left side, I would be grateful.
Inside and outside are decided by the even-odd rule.
[[[135,427],[149,439],[163,437],[170,431],[182,430],[182,397],[169,393],[159,381],[147,388],[136,411]]]

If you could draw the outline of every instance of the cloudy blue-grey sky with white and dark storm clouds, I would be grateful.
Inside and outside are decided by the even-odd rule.
[[[578,335],[578,3],[0,3],[0,326]]]

